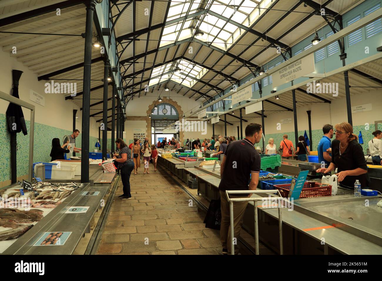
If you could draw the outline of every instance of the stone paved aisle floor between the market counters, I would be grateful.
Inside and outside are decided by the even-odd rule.
[[[205,213],[163,172],[131,174],[129,200],[118,186],[97,254],[219,255],[219,231],[207,229]]]

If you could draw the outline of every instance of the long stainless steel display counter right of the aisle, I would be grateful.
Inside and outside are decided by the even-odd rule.
[[[170,159],[162,159],[168,161]],[[163,163],[162,162],[162,163]],[[301,161],[283,160],[279,172],[296,175]],[[196,178],[198,195],[219,199],[220,169],[185,167],[187,179]],[[187,182],[187,181],[185,181]],[[258,197],[259,195],[253,195]],[[264,193],[263,197],[274,197]],[[282,208],[284,254],[382,254],[382,196],[356,198],[351,190],[338,188],[331,197],[301,198]],[[365,206],[365,200],[369,206]],[[257,202],[259,237],[278,252],[278,211]],[[287,203],[285,203],[288,206]],[[254,233],[253,202],[244,214],[243,227]]]

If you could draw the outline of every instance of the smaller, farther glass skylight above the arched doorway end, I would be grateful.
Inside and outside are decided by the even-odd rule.
[[[180,68],[179,73],[174,71],[175,67]],[[204,74],[206,74],[206,72],[206,68],[193,62],[189,62],[188,60],[180,59],[154,68],[150,77],[149,86],[172,80],[175,83],[191,88]]]

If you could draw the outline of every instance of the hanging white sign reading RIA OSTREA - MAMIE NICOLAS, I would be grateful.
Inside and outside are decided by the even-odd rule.
[[[272,74],[272,86],[280,86],[312,72],[314,72],[314,54],[292,61],[274,72]]]

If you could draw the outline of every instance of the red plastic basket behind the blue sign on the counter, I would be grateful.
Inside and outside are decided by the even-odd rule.
[[[274,185],[282,197],[288,197],[291,184]],[[305,182],[299,198],[332,196],[332,186],[319,182]]]

